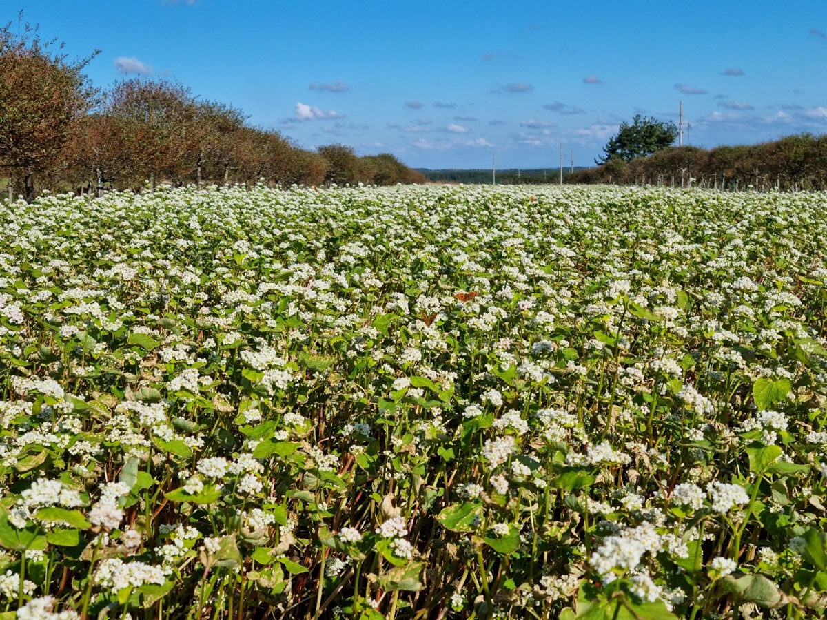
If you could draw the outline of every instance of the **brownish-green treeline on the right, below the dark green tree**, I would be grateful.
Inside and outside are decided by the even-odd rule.
[[[827,135],[801,133],[757,145],[671,147],[582,169],[566,183],[651,184],[767,191],[827,189]]]

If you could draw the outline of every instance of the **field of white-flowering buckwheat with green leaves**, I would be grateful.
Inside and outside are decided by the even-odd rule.
[[[821,617],[823,193],[0,205],[0,618]]]

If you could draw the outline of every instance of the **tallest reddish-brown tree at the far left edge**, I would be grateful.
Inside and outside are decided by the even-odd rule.
[[[22,16],[21,16],[22,17]],[[26,200],[35,198],[35,174],[55,163],[73,126],[93,105],[94,89],[81,70],[98,54],[74,62],[41,41],[37,26],[22,34],[0,28],[0,166],[23,175]]]

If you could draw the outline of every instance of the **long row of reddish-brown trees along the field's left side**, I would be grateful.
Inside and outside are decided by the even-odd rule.
[[[240,109],[165,80],[102,91],[26,25],[0,28],[0,177],[9,195],[43,189],[103,193],[147,184],[423,183],[394,155],[359,157],[342,144],[304,150],[251,126]]]

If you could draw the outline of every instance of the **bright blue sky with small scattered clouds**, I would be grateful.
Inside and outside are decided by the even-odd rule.
[[[20,5],[20,6],[17,6]],[[714,146],[827,130],[827,2],[3,0],[106,87],[136,74],[299,145],[426,168],[590,165],[636,113]]]

